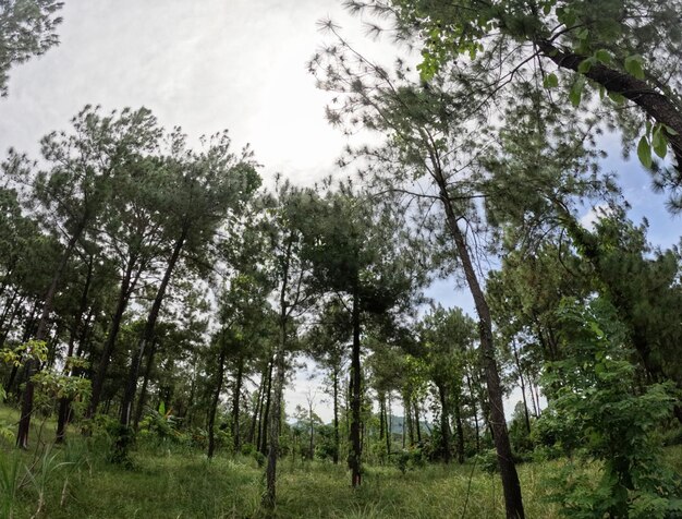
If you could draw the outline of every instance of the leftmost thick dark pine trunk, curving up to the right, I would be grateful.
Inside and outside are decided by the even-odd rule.
[[[69,263],[69,258],[73,253],[73,250],[76,246],[78,238],[81,238],[81,233],[85,228],[85,221],[83,221],[78,228],[74,231],[73,236],[69,240],[66,248],[64,249],[62,256],[59,261],[59,265],[57,266],[57,270],[52,276],[52,281],[50,282],[49,288],[47,289],[47,293],[45,294],[45,301],[42,303],[42,312],[40,313],[40,319],[38,321],[38,329],[36,330],[36,340],[45,341],[47,339],[48,334],[48,322],[50,318],[50,313],[52,312],[52,306],[54,304],[54,295],[57,295],[57,287],[59,286],[61,278],[66,269],[66,264]],[[34,373],[39,369],[38,362],[31,357],[24,364],[25,370],[25,378],[26,378],[26,388],[24,389],[24,395],[22,399],[22,413],[19,420],[19,430],[16,432],[16,446],[26,449],[28,448],[28,431],[31,429],[31,415],[33,413],[33,395],[34,395],[34,384],[32,377]]]

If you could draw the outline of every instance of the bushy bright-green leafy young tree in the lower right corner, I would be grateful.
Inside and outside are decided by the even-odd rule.
[[[562,473],[567,483],[555,486],[555,498],[570,517],[674,514],[682,488],[662,463],[653,434],[671,413],[671,386],[634,391],[626,334],[605,300],[586,306],[567,301],[558,317],[569,354],[547,366],[544,384],[550,406],[540,424],[569,452],[601,463],[601,478],[571,478],[569,466]]]

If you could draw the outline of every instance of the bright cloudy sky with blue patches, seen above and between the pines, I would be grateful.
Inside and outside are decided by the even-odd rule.
[[[381,62],[400,52],[364,38],[361,20],[340,0],[69,0],[62,15],[61,45],[10,71],[9,97],[0,98],[1,153],[13,146],[37,158],[39,138],[68,130],[87,104],[105,111],[145,106],[193,138],[228,129],[235,148],[251,144],[266,183],[281,172],[312,184],[348,174],[334,167],[345,137],[325,120],[329,95],[306,70],[325,41],[318,22],[332,19]],[[604,169],[619,173],[631,217],[647,217],[655,244],[678,243],[680,220],[665,210],[665,196],[651,192],[636,159],[622,159],[617,135],[601,144],[609,152]],[[593,219],[586,208],[583,221]],[[473,315],[471,298],[452,280],[427,295]],[[289,412],[321,384],[310,375],[301,371],[288,388]],[[329,420],[321,394],[317,412]],[[507,408],[519,398],[512,395]]]

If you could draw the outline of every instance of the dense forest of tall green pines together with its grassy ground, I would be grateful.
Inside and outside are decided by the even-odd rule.
[[[679,241],[682,2],[344,8],[392,64],[320,22],[308,184],[147,108],[1,143],[0,517],[682,517],[682,249],[604,150]],[[0,0],[3,97],[63,11]]]

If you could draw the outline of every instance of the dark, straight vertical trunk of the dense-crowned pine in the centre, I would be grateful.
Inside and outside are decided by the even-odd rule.
[[[351,486],[357,487],[362,483],[362,444],[360,438],[361,422],[361,366],[360,366],[360,294],[357,286],[353,290],[353,348],[351,351],[351,452],[349,454],[349,468],[351,469]]]

